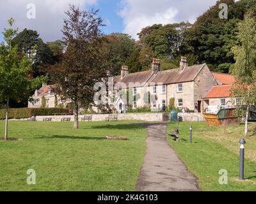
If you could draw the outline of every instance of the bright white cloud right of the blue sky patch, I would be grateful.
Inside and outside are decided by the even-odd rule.
[[[215,3],[216,0],[122,0],[119,15],[124,21],[124,32],[138,39],[136,34],[148,25],[193,23]]]

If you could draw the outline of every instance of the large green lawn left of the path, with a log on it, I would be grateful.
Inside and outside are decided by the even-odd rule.
[[[133,122],[17,122],[0,140],[0,191],[134,191],[147,131]],[[0,134],[4,121],[0,121]],[[124,135],[129,140],[106,140]],[[26,183],[36,171],[36,185]]]

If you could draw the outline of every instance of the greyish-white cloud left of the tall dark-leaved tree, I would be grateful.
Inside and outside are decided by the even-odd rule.
[[[27,18],[27,4],[33,3],[36,6],[36,18]],[[7,20],[10,17],[15,19],[14,27],[19,31],[24,28],[38,31],[44,41],[59,40],[62,37],[63,18],[68,4],[84,6],[96,4],[97,0],[5,0],[0,1],[0,31],[7,27]]]

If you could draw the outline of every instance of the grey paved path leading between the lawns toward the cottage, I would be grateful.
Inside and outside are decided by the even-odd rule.
[[[138,191],[199,191],[196,177],[166,140],[166,124],[147,124],[147,153],[137,184]]]

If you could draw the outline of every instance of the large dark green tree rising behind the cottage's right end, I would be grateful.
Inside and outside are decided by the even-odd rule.
[[[221,3],[228,4],[228,19],[219,17]],[[181,54],[193,53],[198,64],[207,63],[212,71],[228,73],[235,63],[231,48],[236,45],[237,24],[243,20],[244,13],[255,6],[256,1],[251,0],[217,1],[186,30]]]

